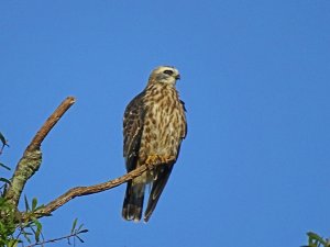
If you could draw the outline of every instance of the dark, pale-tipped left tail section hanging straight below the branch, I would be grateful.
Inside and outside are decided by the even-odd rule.
[[[139,222],[142,216],[144,183],[132,184],[128,182],[125,199],[122,205],[122,217],[127,221]]]

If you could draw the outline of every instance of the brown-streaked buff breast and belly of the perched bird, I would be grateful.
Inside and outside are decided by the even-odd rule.
[[[144,98],[140,155],[176,156],[185,132],[185,112],[174,88],[152,88]]]

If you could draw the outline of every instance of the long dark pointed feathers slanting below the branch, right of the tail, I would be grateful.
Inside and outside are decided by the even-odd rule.
[[[147,206],[144,212],[144,222],[147,222],[154,212],[161,194],[167,183],[174,164],[161,166],[156,171],[155,181],[153,181],[152,190],[148,197]]]

